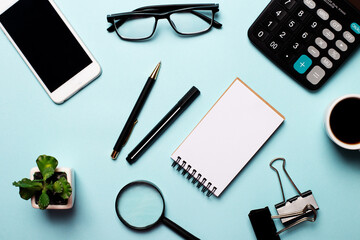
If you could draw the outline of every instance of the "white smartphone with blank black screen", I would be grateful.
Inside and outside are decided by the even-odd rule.
[[[0,0],[0,28],[55,103],[101,74],[53,0]]]

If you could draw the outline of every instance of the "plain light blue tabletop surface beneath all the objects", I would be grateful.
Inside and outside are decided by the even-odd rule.
[[[56,105],[0,33],[0,239],[180,239],[165,226],[136,233],[118,220],[115,197],[122,186],[137,179],[157,184],[165,196],[167,217],[199,238],[255,239],[249,211],[269,206],[275,215],[273,205],[282,200],[277,177],[268,166],[275,157],[287,159],[287,170],[300,191],[311,189],[320,206],[315,223],[288,231],[282,239],[359,238],[360,154],[335,146],[323,124],[326,108],[335,98],[360,92],[359,51],[314,93],[291,80],[249,42],[247,30],[267,0],[219,1],[221,30],[182,38],[161,21],[153,39],[140,43],[107,33],[106,15],[179,1],[56,3],[99,61],[103,74],[63,105]],[[159,78],[139,123],[113,161],[113,145],[160,60]],[[207,198],[171,168],[170,155],[235,77],[286,120],[220,198]],[[193,85],[200,89],[200,97],[130,166],[127,153]],[[72,210],[33,209],[11,185],[28,177],[40,154],[53,155],[60,166],[75,169]],[[286,196],[294,196],[294,189],[283,180]]]

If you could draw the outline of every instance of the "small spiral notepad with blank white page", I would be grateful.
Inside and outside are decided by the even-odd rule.
[[[236,79],[171,155],[172,166],[219,197],[284,120]]]

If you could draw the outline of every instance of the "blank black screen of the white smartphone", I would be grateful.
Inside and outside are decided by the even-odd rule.
[[[0,22],[50,92],[92,63],[48,0],[19,0]]]

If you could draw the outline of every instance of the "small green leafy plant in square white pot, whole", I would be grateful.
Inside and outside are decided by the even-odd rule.
[[[57,168],[58,161],[51,156],[40,155],[31,169],[30,179],[23,178],[13,182],[19,187],[20,197],[40,209],[70,209],[75,200],[74,171],[70,168]]]

